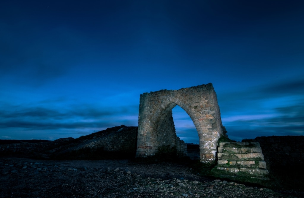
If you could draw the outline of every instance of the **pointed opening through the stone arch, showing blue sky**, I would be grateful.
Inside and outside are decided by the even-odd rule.
[[[172,109],[176,135],[187,145],[187,156],[193,160],[199,159],[199,135],[190,116],[180,106]]]

